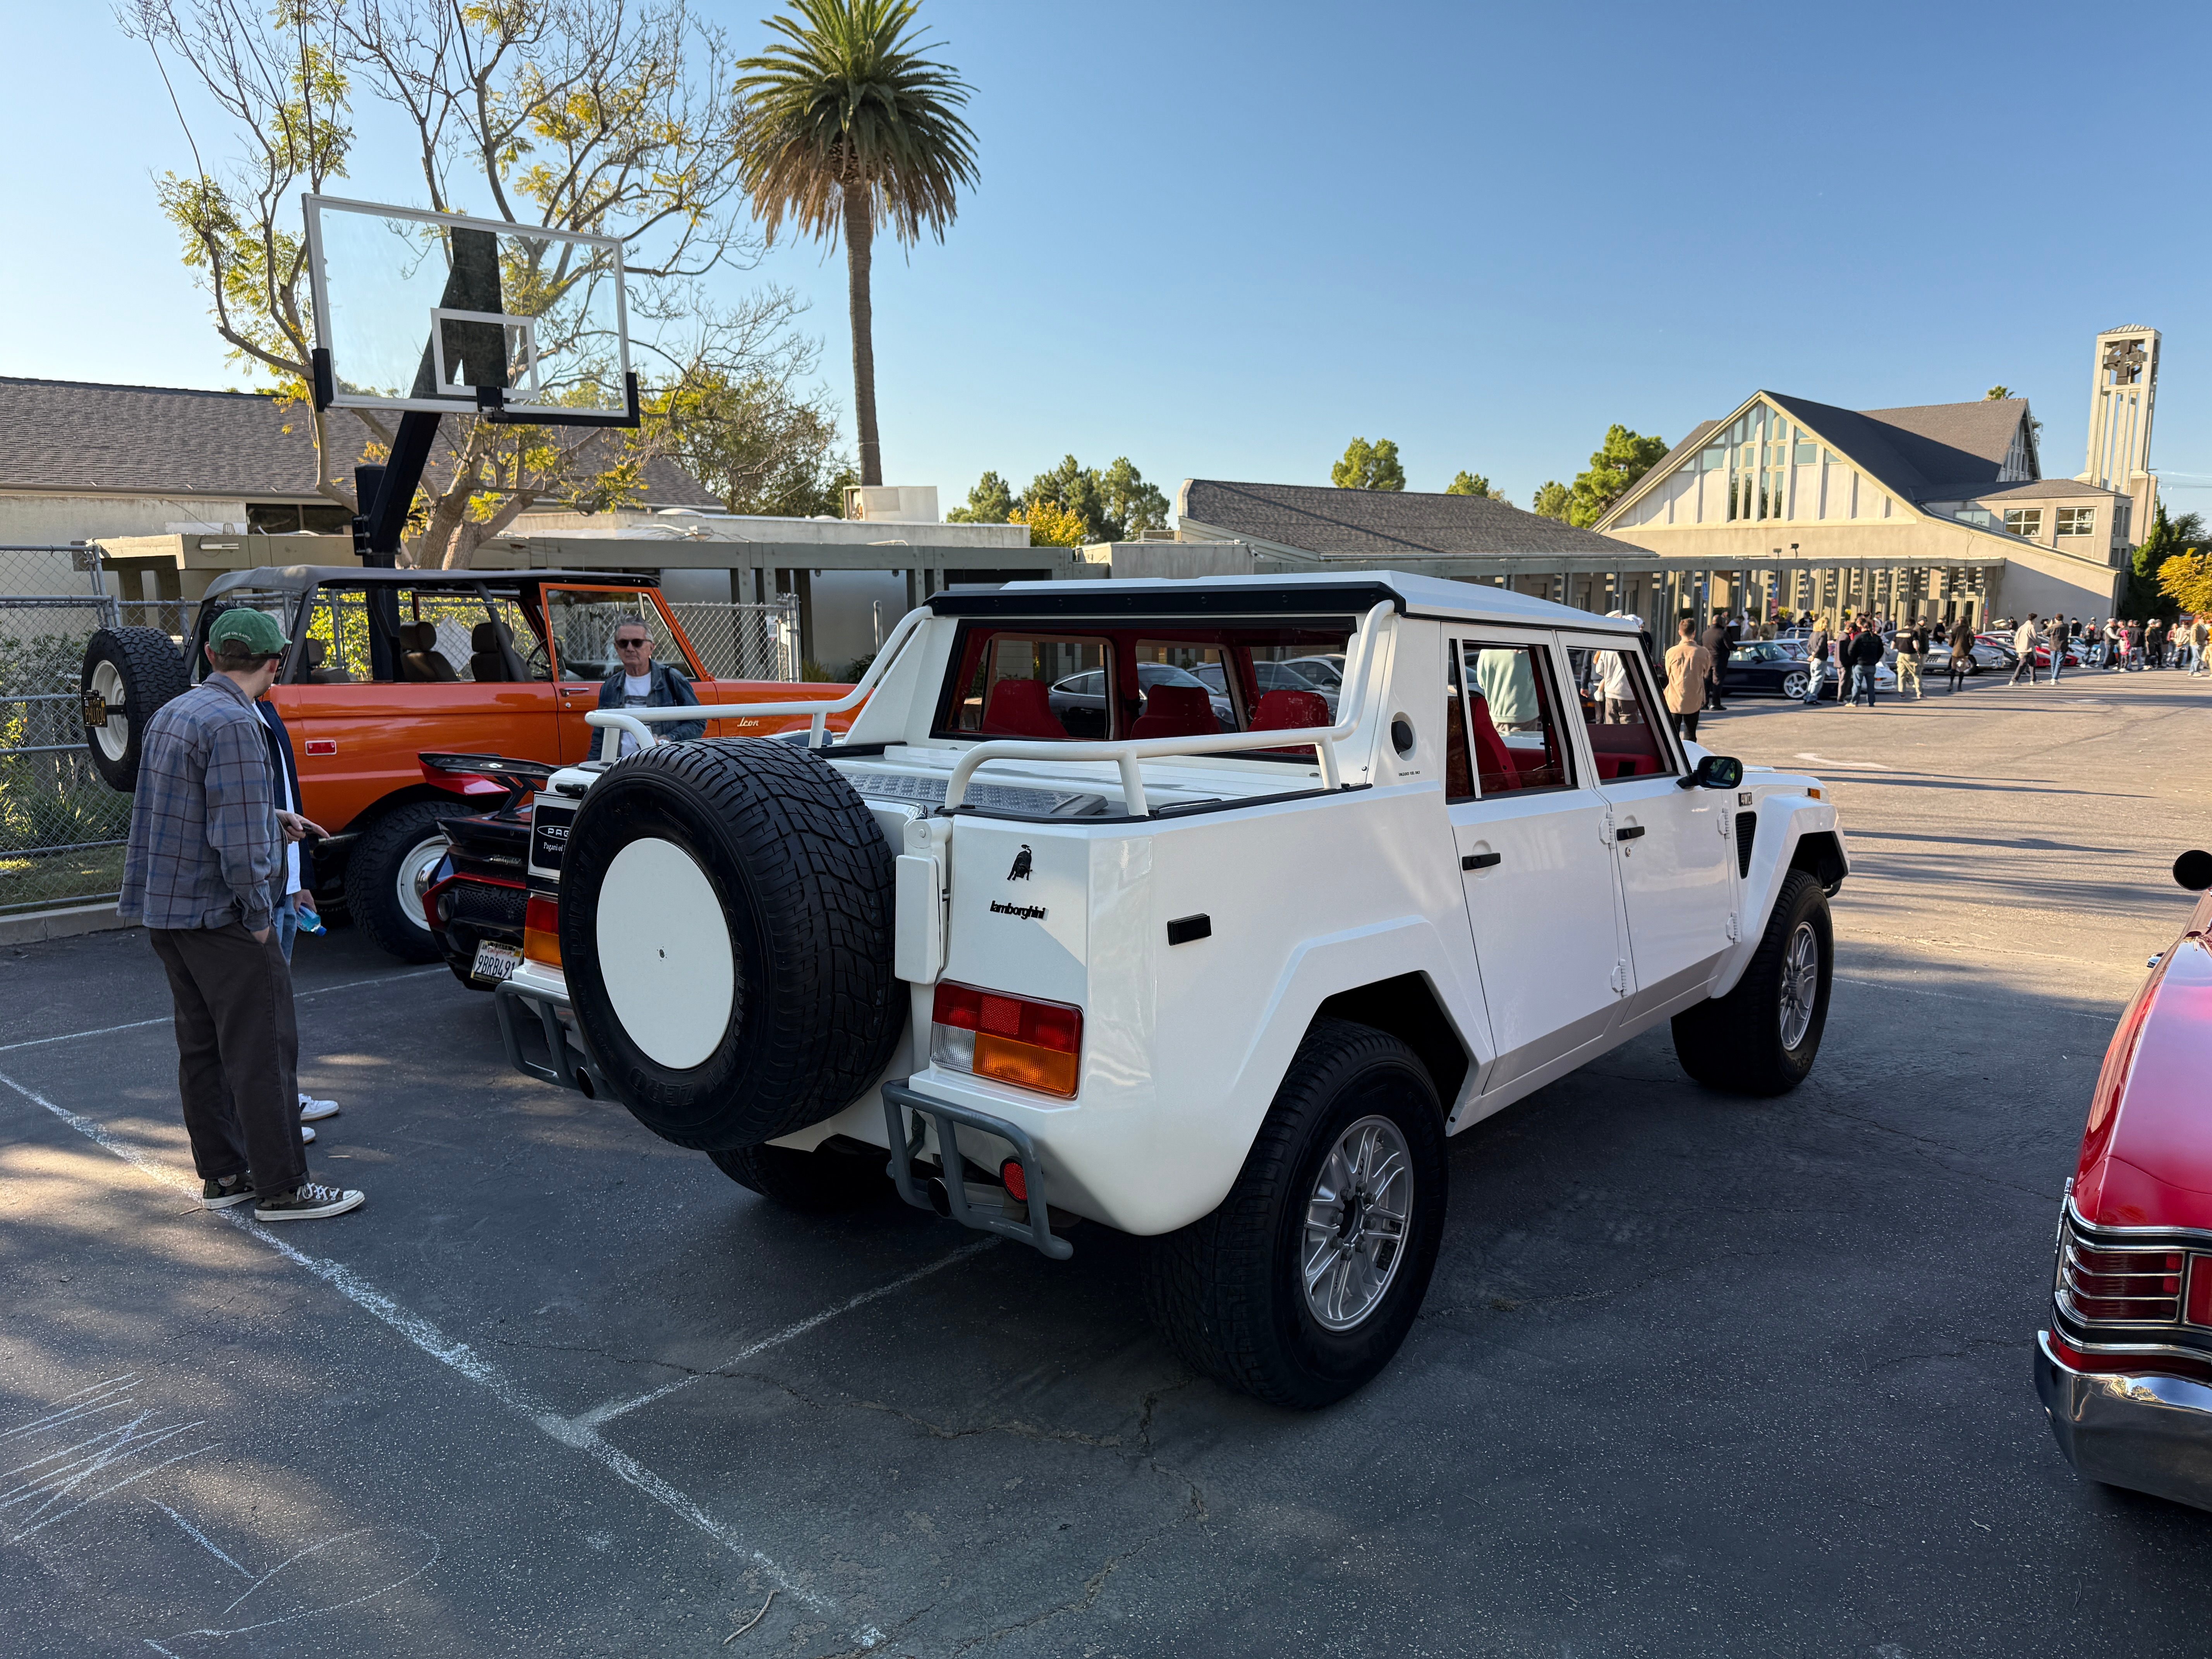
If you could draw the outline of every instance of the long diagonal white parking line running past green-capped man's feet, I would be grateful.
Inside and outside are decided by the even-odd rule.
[[[442,973],[445,969],[438,969],[438,971]],[[327,989],[338,991],[343,987],[327,987]],[[22,1095],[24,1099],[29,1099],[33,1106],[44,1106],[58,1119],[62,1119],[73,1130],[77,1130],[77,1135],[82,1135],[84,1139],[88,1139],[95,1146],[104,1148],[106,1152],[113,1152],[115,1157],[119,1157],[124,1164],[128,1164],[131,1168],[139,1170],[148,1179],[159,1181],[161,1186],[173,1188],[177,1192],[186,1192],[186,1194],[197,1197],[197,1186],[192,1181],[188,1181],[177,1170],[170,1170],[168,1166],[164,1166],[150,1152],[146,1152],[146,1150],[133,1146],[131,1141],[126,1141],[126,1139],[108,1133],[102,1124],[95,1124],[91,1117],[82,1117],[82,1115],[69,1110],[66,1106],[55,1106],[51,1099],[46,1099],[44,1095],[31,1091],[31,1088],[24,1088],[13,1077],[0,1075],[0,1084],[7,1084],[18,1095]],[[549,1405],[544,1405],[542,1400],[538,1400],[535,1396],[531,1396],[529,1391],[524,1391],[520,1385],[515,1385],[495,1365],[491,1365],[480,1354],[476,1354],[467,1343],[456,1343],[453,1338],[449,1338],[445,1332],[440,1332],[436,1325],[431,1325],[420,1314],[407,1312],[396,1301],[392,1301],[385,1292],[376,1290],[372,1283],[367,1283],[365,1279],[361,1279],[345,1263],[330,1261],[327,1256],[310,1256],[305,1250],[296,1250],[296,1248],[288,1245],[283,1239],[279,1239],[276,1234],[272,1234],[259,1221],[248,1219],[239,1210],[212,1210],[210,1214],[215,1214],[219,1221],[228,1221],[232,1228],[237,1228],[239,1232],[243,1232],[248,1239],[254,1239],[257,1243],[274,1250],[279,1256],[283,1256],[285,1261],[290,1261],[294,1267],[305,1267],[310,1274],[314,1274],[325,1285],[330,1285],[341,1296],[345,1296],[349,1303],[354,1303],[354,1307],[363,1310],[365,1314],[372,1314],[374,1318],[380,1318],[385,1325],[389,1325],[392,1329],[396,1329],[400,1336],[405,1336],[418,1349],[422,1349],[425,1354],[429,1354],[434,1360],[438,1360],[440,1365],[445,1365],[445,1367],[458,1371],[460,1376],[469,1378],[471,1383],[476,1383],[493,1400],[498,1400],[502,1407],[507,1407],[515,1416],[526,1418],[531,1425],[535,1425],[549,1438],[557,1440],[564,1447],[582,1451],[586,1458],[591,1458],[593,1462],[597,1462],[602,1469],[608,1469],[611,1473],[619,1475],[624,1482],[628,1482],[637,1491],[646,1493],[646,1498],[650,1498],[653,1502],[657,1502],[657,1504],[675,1511],[677,1515],[681,1515],[686,1522],[690,1522],[692,1526],[697,1526],[701,1533],[706,1533],[708,1537],[712,1537],[717,1544],[721,1544],[730,1553],[741,1555],[743,1559],[752,1562],[754,1566],[759,1566],[792,1599],[796,1599],[796,1601],[814,1608],[816,1613],[823,1613],[823,1615],[830,1615],[830,1617],[838,1617],[838,1606],[836,1606],[834,1599],[830,1599],[825,1595],[818,1595],[814,1590],[807,1590],[801,1584],[794,1584],[792,1577],[790,1577],[790,1573],[785,1573],[776,1562],[772,1562],[761,1551],[745,1546],[743,1540],[739,1540],[734,1531],[730,1531],[719,1520],[714,1520],[712,1515],[708,1515],[692,1498],[688,1498],[686,1493],[681,1493],[675,1486],[670,1486],[666,1480],[661,1480],[657,1473],[653,1473],[650,1469],[646,1469],[641,1462],[637,1462],[626,1451],[617,1451],[615,1447],[606,1444],[606,1440],[602,1440],[597,1436],[597,1431],[593,1431],[588,1427],[582,1427],[577,1422],[571,1422],[568,1418],[562,1418]],[[874,1648],[878,1641],[883,1641],[883,1630],[878,1630],[876,1626],[869,1624],[869,1626],[860,1626],[858,1630],[852,1630],[852,1637],[854,1637],[854,1641],[858,1641],[858,1646]]]

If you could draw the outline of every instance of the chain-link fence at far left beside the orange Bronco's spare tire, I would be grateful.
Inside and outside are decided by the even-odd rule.
[[[77,677],[93,630],[139,622],[133,608],[104,593],[91,549],[0,546],[0,916],[122,887],[131,796],[93,770]]]

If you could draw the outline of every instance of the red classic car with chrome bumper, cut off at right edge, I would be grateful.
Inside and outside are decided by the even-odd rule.
[[[2075,1471],[2212,1509],[2212,852],[2106,1048],[2059,1210],[2035,1389]]]

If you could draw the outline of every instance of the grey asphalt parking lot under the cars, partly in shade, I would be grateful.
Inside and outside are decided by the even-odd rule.
[[[2077,1482],[2028,1352],[2212,690],[1703,737],[1838,785],[1818,1071],[1657,1031],[1460,1135],[1416,1334],[1314,1416],[1192,1380],[1133,1241],[787,1217],[349,931],[303,1084],[367,1208],[199,1212],[144,936],[0,949],[0,1650],[2201,1655],[2212,1515]]]

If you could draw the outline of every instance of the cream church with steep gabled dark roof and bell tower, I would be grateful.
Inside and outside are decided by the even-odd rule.
[[[1705,602],[1730,608],[2110,615],[2154,491],[2148,471],[2130,482],[2044,478],[2026,398],[1840,409],[1754,392],[1597,529],[1708,566]]]

